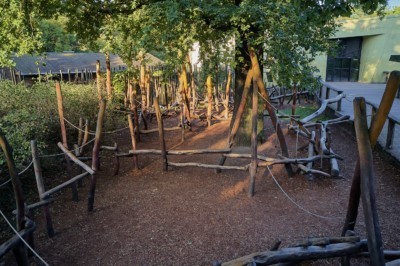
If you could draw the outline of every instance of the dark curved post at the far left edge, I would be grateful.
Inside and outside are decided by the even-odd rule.
[[[12,149],[4,136],[3,131],[0,129],[0,146],[3,149],[4,157],[7,161],[8,171],[11,177],[11,183],[14,190],[15,205],[17,209],[17,231],[25,228],[25,200],[22,191],[21,181],[18,177],[17,168],[12,155]],[[14,248],[14,255],[18,265],[28,265],[28,258],[26,256],[25,248],[22,243]]]

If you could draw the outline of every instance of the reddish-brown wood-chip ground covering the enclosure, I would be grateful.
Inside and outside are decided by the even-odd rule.
[[[175,118],[166,125],[176,126]],[[151,127],[156,127],[156,121]],[[194,123],[180,143],[179,132],[167,132],[169,149],[225,148],[229,122],[206,128]],[[332,148],[345,158],[339,162],[343,178],[306,176],[288,178],[282,166],[269,172],[259,169],[256,194],[248,198],[247,172],[201,168],[170,167],[162,171],[160,156],[140,156],[140,170],[132,170],[132,159],[121,159],[121,171],[112,176],[111,160],[102,160],[95,210],[86,212],[88,182],[80,188],[81,200],[70,200],[69,190],[60,193],[51,206],[56,236],[46,235],[44,219],[36,215],[37,252],[50,265],[211,265],[213,261],[234,258],[271,248],[280,240],[282,247],[308,237],[339,236],[347,208],[350,184],[357,156],[356,140],[348,127],[332,126]],[[260,153],[280,154],[272,129]],[[306,151],[306,144],[293,133],[286,133],[292,157]],[[124,151],[130,147],[128,132],[114,136]],[[158,134],[142,136],[138,148],[158,148]],[[246,147],[236,147],[246,152]],[[105,155],[107,156],[107,155]],[[171,162],[215,164],[219,155],[169,156]],[[400,248],[400,168],[382,152],[374,152],[377,206],[385,249]],[[245,165],[248,160],[228,159],[226,165]],[[318,162],[315,166],[321,167]],[[327,170],[324,163],[322,169]],[[293,204],[290,196],[300,209]],[[323,216],[323,217],[321,217]],[[365,237],[362,210],[356,233]],[[12,254],[4,264],[13,264]],[[368,265],[355,259],[354,265]],[[0,265],[2,263],[0,262]],[[32,259],[32,264],[36,262]],[[309,263],[303,263],[308,265]],[[338,259],[320,260],[313,265],[337,265]]]

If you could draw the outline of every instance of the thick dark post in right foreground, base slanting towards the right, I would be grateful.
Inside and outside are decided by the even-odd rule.
[[[382,236],[376,209],[373,157],[364,98],[357,97],[354,99],[354,127],[360,161],[361,198],[367,228],[368,252],[371,257],[371,265],[385,265]]]

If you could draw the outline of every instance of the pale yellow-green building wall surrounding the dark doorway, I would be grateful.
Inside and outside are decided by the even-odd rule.
[[[359,81],[385,82],[384,72],[400,70],[400,63],[389,61],[390,55],[400,55],[400,16],[342,19],[342,26],[332,38],[363,37]],[[325,60],[325,61],[324,61]],[[326,55],[316,58],[315,65],[326,77]]]

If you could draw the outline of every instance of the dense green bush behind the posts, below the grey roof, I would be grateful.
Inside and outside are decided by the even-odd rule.
[[[90,130],[95,131],[98,113],[98,97],[95,85],[62,83],[64,116],[77,125],[79,117],[88,119]],[[126,118],[111,111],[114,105],[121,102],[114,99],[107,106],[105,130],[123,126]],[[121,117],[121,119],[117,119]],[[112,118],[112,119],[111,119]],[[36,83],[32,87],[22,84],[13,85],[9,81],[0,82],[0,128],[6,135],[14,151],[18,166],[30,162],[30,141],[38,141],[42,153],[52,153],[56,143],[61,140],[60,121],[57,110],[55,84]],[[76,143],[77,131],[66,123],[68,142]],[[59,151],[57,151],[59,152]],[[4,165],[0,152],[0,168]]]

